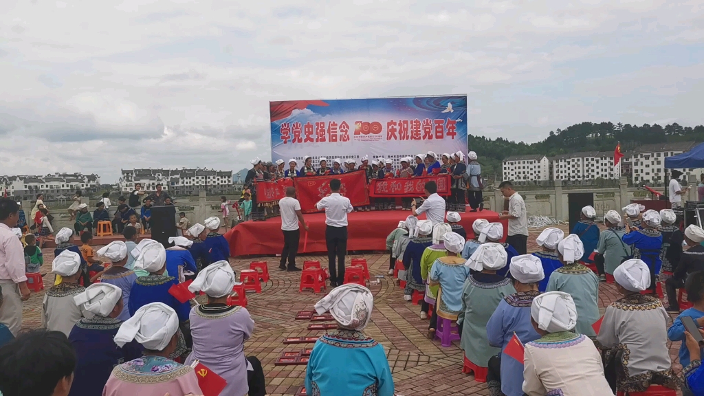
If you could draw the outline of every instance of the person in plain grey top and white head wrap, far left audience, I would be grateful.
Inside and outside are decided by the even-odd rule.
[[[42,302],[42,328],[61,331],[67,337],[73,325],[81,318],[92,318],[93,314],[83,307],[76,307],[75,295],[80,295],[85,287],[78,284],[81,277],[81,257],[76,252],[64,250],[54,258],[51,272],[61,275],[59,285],[46,290]]]

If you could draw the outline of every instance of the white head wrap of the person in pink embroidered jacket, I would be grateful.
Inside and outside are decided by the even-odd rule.
[[[178,330],[176,311],[163,302],[152,302],[134,312],[132,318],[122,323],[115,334],[115,344],[122,347],[137,340],[146,349],[161,351]]]

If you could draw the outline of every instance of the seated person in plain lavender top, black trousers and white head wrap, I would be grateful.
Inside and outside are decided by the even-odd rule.
[[[218,261],[203,269],[189,285],[191,292],[204,292],[206,304],[191,309],[193,352],[186,364],[200,361],[227,381],[221,395],[263,396],[266,393],[262,365],[246,357],[244,342],[254,330],[254,321],[244,307],[227,304],[235,274],[230,263]]]

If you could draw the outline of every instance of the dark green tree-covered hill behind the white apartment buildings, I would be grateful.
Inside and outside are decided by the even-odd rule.
[[[704,142],[704,125],[683,127],[672,123],[641,126],[622,123],[579,123],[565,129],[550,131],[545,140],[526,144],[497,137],[469,135],[468,146],[479,156],[482,173],[501,178],[501,161],[513,155],[545,154],[555,156],[579,151],[613,151],[621,142],[621,151],[635,149],[642,144],[670,142]]]

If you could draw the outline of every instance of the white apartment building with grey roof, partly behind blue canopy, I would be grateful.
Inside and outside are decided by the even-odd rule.
[[[665,158],[675,156],[696,147],[696,142],[644,144],[627,153],[631,163],[631,177],[636,185],[650,182],[665,182]],[[700,175],[704,168],[679,169],[684,172],[683,178],[689,175]]]

